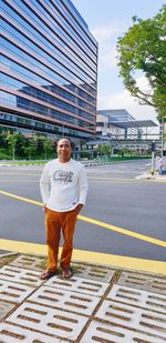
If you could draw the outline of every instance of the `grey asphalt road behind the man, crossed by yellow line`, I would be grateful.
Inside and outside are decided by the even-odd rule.
[[[148,241],[166,241],[166,183],[135,179],[149,169],[148,160],[86,168],[90,189],[81,214],[87,222],[77,221],[75,249],[166,261],[165,248]],[[0,191],[41,202],[41,172],[39,165],[0,167]],[[1,239],[45,242],[41,206],[0,194],[0,209]],[[91,219],[102,221],[103,225],[92,224]],[[112,231],[104,223],[135,235]],[[137,239],[136,233],[147,240]]]

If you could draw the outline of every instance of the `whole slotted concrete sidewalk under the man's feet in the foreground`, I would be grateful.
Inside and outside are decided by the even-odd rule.
[[[1,256],[0,342],[166,342],[166,276],[75,261],[43,282],[44,261]]]

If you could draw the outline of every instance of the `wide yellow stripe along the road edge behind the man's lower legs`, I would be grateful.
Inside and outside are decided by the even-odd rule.
[[[43,256],[46,255],[46,245],[44,244],[0,240],[0,249],[19,253],[38,254]],[[91,262],[96,264],[98,262],[98,264],[106,264],[110,266],[133,269],[142,272],[145,271],[166,275],[166,262],[153,260],[135,259],[74,249],[73,261]]]

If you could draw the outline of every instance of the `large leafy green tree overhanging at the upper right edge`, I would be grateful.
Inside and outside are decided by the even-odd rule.
[[[133,21],[117,41],[120,75],[139,103],[156,108],[159,119],[166,111],[166,4],[152,19]],[[137,72],[146,77],[148,89],[137,85]]]

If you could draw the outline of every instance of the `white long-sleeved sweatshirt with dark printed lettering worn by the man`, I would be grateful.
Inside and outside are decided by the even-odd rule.
[[[72,211],[79,203],[85,204],[87,178],[84,167],[72,159],[66,163],[58,159],[48,162],[40,190],[45,206],[56,212]]]

